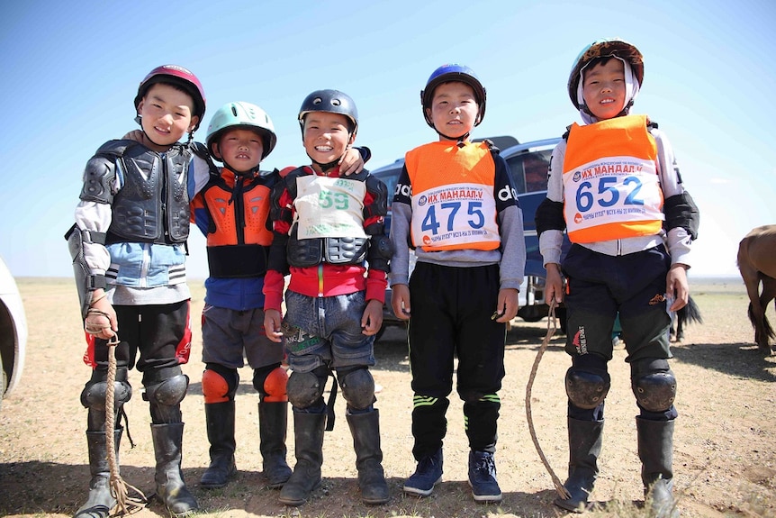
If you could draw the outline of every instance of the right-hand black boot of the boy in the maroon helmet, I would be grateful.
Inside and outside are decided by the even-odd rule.
[[[151,438],[157,459],[157,495],[175,516],[185,516],[197,510],[194,495],[185,486],[181,472],[181,447],[184,423],[151,424]]]

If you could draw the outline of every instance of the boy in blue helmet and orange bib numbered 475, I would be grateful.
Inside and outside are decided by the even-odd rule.
[[[439,140],[407,153],[391,226],[393,312],[412,317],[412,454],[418,465],[404,492],[428,496],[442,478],[447,396],[457,357],[472,495],[478,502],[499,502],[498,391],[505,324],[518,313],[526,262],[522,211],[498,150],[468,140],[485,114],[485,88],[471,68],[437,68],[420,98]],[[408,243],[418,259],[411,277]]]

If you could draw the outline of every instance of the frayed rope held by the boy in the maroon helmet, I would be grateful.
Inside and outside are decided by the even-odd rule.
[[[116,499],[117,512],[119,514],[129,514],[140,511],[145,504],[148,504],[148,499],[140,489],[124,482],[119,474],[119,462],[116,459],[116,435],[114,432],[116,416],[113,401],[116,390],[116,346],[118,344],[119,337],[114,334],[108,341],[108,377],[105,380],[107,385],[107,390],[105,390],[105,442],[108,449],[108,468],[111,471],[109,480],[111,495]],[[137,493],[138,496],[130,496],[130,489]]]

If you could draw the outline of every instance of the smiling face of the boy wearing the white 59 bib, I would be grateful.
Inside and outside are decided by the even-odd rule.
[[[315,162],[328,164],[345,154],[348,144],[356,140],[345,115],[311,112],[304,116],[302,143],[307,155]],[[313,164],[318,170],[318,165]]]

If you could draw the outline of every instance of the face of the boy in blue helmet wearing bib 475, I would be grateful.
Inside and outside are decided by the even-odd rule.
[[[431,107],[426,112],[437,132],[457,139],[472,131],[479,106],[471,86],[459,82],[442,83],[434,90]],[[439,140],[446,140],[441,135]]]

